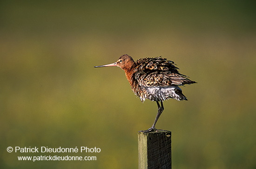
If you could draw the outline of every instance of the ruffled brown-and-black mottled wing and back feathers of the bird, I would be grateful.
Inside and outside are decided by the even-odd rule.
[[[166,58],[142,58],[136,63],[135,79],[140,85],[160,87],[195,83],[187,76],[180,74],[175,63]]]

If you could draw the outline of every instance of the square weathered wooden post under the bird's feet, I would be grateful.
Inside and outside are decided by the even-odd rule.
[[[171,131],[138,132],[139,169],[171,169]]]

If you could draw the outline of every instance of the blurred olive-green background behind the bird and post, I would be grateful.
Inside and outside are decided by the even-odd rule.
[[[168,100],[174,169],[256,168],[256,10],[251,0],[1,0],[0,168],[136,169],[141,103],[115,62],[175,61],[198,84]],[[100,153],[8,153],[7,147],[97,147]],[[18,161],[17,156],[97,156]]]

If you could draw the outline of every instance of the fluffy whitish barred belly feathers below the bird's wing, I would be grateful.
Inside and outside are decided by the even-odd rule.
[[[177,92],[178,91],[178,92]],[[163,101],[169,98],[183,100],[186,97],[182,94],[181,88],[176,85],[166,87],[145,87],[145,92],[140,96],[141,101],[149,99],[151,101]]]

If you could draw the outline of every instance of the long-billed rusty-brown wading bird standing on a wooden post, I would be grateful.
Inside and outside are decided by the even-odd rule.
[[[164,110],[163,101],[170,98],[188,100],[183,95],[180,86],[196,83],[188,76],[181,74],[173,61],[162,58],[162,56],[140,58],[134,61],[131,56],[124,54],[115,63],[94,67],[109,66],[118,66],[125,71],[132,91],[141,99],[142,103],[149,99],[157,104],[158,112],[153,125],[148,130],[140,132],[157,131],[155,124]]]

